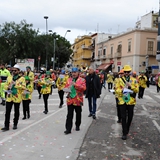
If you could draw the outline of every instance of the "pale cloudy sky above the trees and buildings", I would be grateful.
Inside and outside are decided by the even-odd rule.
[[[120,33],[134,28],[141,16],[159,10],[159,0],[0,0],[0,24],[26,20],[41,33],[48,29],[71,43],[95,32]]]

